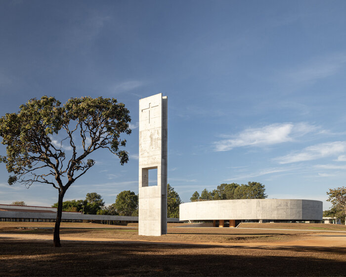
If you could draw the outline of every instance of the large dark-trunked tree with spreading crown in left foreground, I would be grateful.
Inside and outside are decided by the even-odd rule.
[[[121,134],[131,133],[129,122],[129,110],[123,103],[88,96],[71,98],[63,106],[54,97],[34,98],[21,105],[18,113],[0,118],[1,143],[6,145],[6,156],[0,156],[0,161],[12,173],[8,184],[43,183],[58,190],[54,246],[61,246],[64,195],[95,164],[88,156],[105,148],[119,157],[121,165],[128,162],[128,153],[119,147],[126,145]],[[53,136],[64,139],[55,143]],[[64,141],[71,150],[63,147]]]

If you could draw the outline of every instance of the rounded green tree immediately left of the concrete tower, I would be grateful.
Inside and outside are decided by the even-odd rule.
[[[138,208],[138,195],[133,191],[123,190],[117,195],[115,208],[120,216],[131,216]]]

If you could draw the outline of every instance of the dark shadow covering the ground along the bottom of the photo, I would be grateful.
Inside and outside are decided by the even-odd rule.
[[[0,276],[345,276],[345,248],[0,240]]]

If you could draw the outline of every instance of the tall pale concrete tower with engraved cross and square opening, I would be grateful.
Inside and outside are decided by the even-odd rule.
[[[149,186],[149,170],[157,169],[157,184]],[[139,100],[139,220],[138,234],[167,233],[167,96]]]

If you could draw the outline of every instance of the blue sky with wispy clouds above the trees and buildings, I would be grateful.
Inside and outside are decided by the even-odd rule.
[[[346,180],[346,1],[21,1],[0,4],[0,115],[33,97],[126,104],[130,162],[111,153],[65,200],[138,192],[138,100],[169,104],[168,181],[184,202],[221,183],[326,202]],[[5,147],[0,146],[0,155]],[[7,185],[0,203],[57,202]]]

